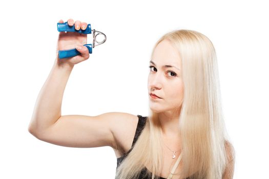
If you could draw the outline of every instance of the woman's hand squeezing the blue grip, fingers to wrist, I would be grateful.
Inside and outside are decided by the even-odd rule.
[[[59,20],[59,23],[64,23],[63,20]],[[80,28],[85,30],[88,26],[87,23],[81,23],[79,20],[76,20],[74,23],[73,19],[69,19],[67,21],[69,26],[75,26],[76,30]],[[87,60],[90,57],[89,50],[87,47],[83,46],[87,43],[87,34],[80,34],[77,32],[59,32],[58,41],[57,41],[57,48],[56,48],[56,60],[58,64],[69,64],[70,66],[74,66],[75,64]],[[81,49],[79,49],[79,47]],[[58,57],[59,50],[68,50],[74,49],[80,53],[80,55],[70,57],[70,58],[63,58],[60,59]]]

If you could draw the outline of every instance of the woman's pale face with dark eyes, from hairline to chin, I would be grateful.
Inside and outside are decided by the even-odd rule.
[[[173,67],[165,67],[171,65]],[[150,108],[156,113],[179,109],[183,99],[181,59],[170,41],[163,40],[155,48],[150,62],[148,91]],[[150,93],[160,98],[152,98]]]

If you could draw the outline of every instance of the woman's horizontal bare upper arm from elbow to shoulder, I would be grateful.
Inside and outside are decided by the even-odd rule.
[[[61,116],[36,137],[45,142],[67,147],[111,146],[117,149],[118,144],[114,134],[120,133],[121,126],[118,124],[127,124],[130,115],[111,112],[98,116]]]

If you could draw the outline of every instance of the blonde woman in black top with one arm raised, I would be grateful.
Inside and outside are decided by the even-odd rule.
[[[73,19],[68,24],[87,27]],[[85,34],[60,32],[56,55],[85,43]],[[89,58],[88,49],[79,47],[81,55],[56,58],[37,98],[32,135],[69,147],[111,146],[119,179],[233,178],[235,152],[222,116],[215,49],[206,36],[177,30],[157,41],[149,66],[149,117],[116,112],[61,116],[73,66]]]

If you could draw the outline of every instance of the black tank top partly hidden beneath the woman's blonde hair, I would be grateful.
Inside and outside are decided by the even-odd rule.
[[[141,115],[137,115],[137,117],[138,117],[138,123],[137,123],[137,126],[136,126],[136,131],[135,131],[135,136],[134,136],[134,140],[133,140],[133,143],[132,143],[132,147],[123,156],[121,156],[120,158],[117,158],[117,168],[121,164],[123,159],[125,159],[126,156],[132,151],[134,144],[136,143],[138,137],[140,136],[140,133],[142,132],[144,126],[146,125],[146,120],[147,120],[148,117],[143,117]],[[148,170],[148,169],[146,167],[144,167],[142,169],[141,173],[139,174],[139,177],[137,179],[151,179],[151,177],[149,177],[149,178],[144,177],[144,175],[146,174],[146,170]],[[157,177],[155,176],[155,178],[157,178]],[[160,179],[167,179],[167,178],[163,178],[161,176],[159,176],[159,178]],[[186,179],[189,179],[189,177],[187,177]]]

